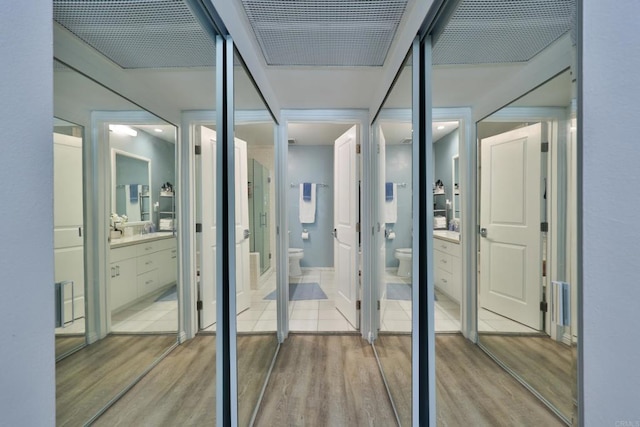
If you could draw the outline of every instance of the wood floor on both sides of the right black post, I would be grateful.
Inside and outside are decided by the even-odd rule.
[[[411,337],[381,335],[376,351],[403,426],[411,425]],[[440,426],[563,426],[546,406],[461,335],[436,335]]]

